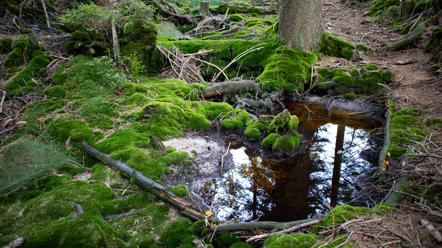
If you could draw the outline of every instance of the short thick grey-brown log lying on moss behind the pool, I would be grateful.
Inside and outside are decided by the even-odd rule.
[[[236,93],[244,89],[257,93],[259,93],[260,91],[258,84],[251,80],[226,81],[204,88],[204,94],[201,94],[200,96],[204,98],[210,98],[218,94],[221,95],[225,93]]]

